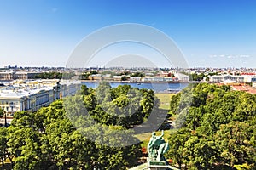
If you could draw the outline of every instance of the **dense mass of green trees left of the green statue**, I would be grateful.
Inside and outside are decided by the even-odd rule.
[[[129,129],[148,117],[154,100],[152,90],[139,90],[128,85],[111,88],[108,82],[102,82],[95,90],[83,86],[79,94],[56,100],[36,112],[16,112],[11,125],[0,129],[3,166],[8,156],[14,169],[132,167],[141,156],[141,147]],[[84,108],[90,118],[79,115]],[[67,111],[72,114],[68,115]],[[96,121],[96,126],[86,130],[91,133],[106,129],[104,133],[109,138],[102,141],[106,145],[98,143],[98,139],[88,139],[86,132],[79,128],[88,126],[91,118]],[[122,135],[116,133],[123,129],[125,133]],[[113,140],[135,144],[110,147],[108,143]]]

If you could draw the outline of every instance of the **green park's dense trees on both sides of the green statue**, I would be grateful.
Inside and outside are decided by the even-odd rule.
[[[78,116],[79,105],[84,105],[90,118]],[[129,85],[110,88],[108,82],[101,82],[96,89],[82,86],[79,94],[36,112],[16,112],[11,125],[0,128],[1,166],[17,170],[137,167],[152,132],[132,135],[132,129],[147,121],[154,109],[166,111],[166,120],[175,122],[163,136],[170,147],[165,157],[173,167],[255,168],[255,95],[207,83],[190,84],[178,94],[154,94],[153,90]],[[110,138],[101,144],[87,139],[78,127],[86,127],[91,118],[108,127],[102,130],[103,135],[126,130],[125,135],[118,136],[119,141],[135,143],[111,147],[109,141],[118,141]],[[86,128],[87,133],[99,129],[102,127]]]

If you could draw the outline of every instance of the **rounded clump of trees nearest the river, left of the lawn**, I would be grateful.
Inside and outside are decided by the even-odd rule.
[[[157,103],[153,90],[139,90],[130,85],[111,88],[108,82],[101,82],[95,95],[84,96],[85,107],[96,122],[125,128],[142,123]]]

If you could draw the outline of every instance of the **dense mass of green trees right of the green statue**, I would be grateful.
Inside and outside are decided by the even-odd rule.
[[[169,139],[173,164],[195,169],[255,168],[256,96],[207,83],[184,90],[188,89],[190,105],[182,100],[184,92],[171,99],[170,112],[177,114],[177,120],[186,112],[181,128]]]

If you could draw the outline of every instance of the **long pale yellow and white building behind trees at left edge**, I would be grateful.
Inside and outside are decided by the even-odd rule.
[[[76,94],[80,88],[80,82],[57,80],[12,82],[10,86],[0,89],[0,107],[7,117],[14,116],[16,111],[38,111],[56,99]]]

